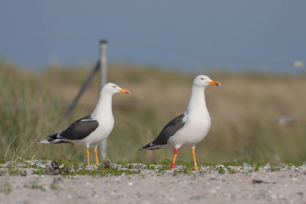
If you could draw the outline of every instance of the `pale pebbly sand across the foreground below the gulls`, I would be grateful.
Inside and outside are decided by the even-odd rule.
[[[7,165],[2,164],[0,171],[9,172]],[[267,164],[254,172],[249,172],[254,168],[247,164],[231,166],[239,173],[230,173],[226,168],[220,173],[203,166],[188,174],[158,172],[158,166],[154,170],[139,169],[139,164],[132,166],[140,173],[94,177],[36,175],[31,174],[33,169],[16,165],[27,173],[0,176],[0,203],[306,203],[305,165],[282,165],[271,170]]]

